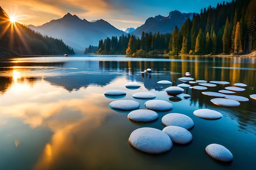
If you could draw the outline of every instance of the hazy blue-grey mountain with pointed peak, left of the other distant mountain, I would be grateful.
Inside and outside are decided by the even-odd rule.
[[[67,13],[63,18],[51,20],[41,26],[28,25],[29,28],[43,35],[62,39],[76,52],[81,53],[85,47],[98,46],[99,40],[125,34],[104,20],[88,22],[76,15]]]

